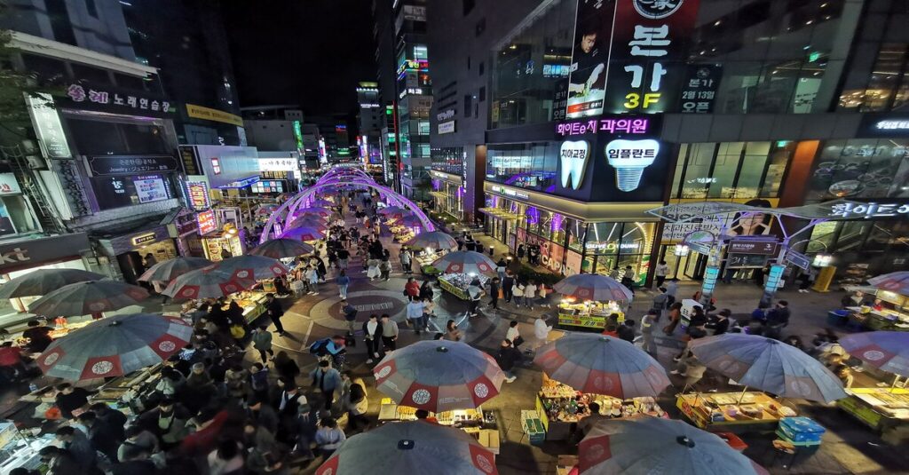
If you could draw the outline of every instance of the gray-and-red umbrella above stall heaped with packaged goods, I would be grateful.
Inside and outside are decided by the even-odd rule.
[[[655,397],[671,384],[666,370],[644,350],[595,333],[568,333],[546,343],[534,363],[576,390],[619,399]]]

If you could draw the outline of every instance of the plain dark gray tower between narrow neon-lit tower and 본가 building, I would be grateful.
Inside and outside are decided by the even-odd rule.
[[[436,211],[458,221],[473,223],[482,217],[477,209],[484,206],[490,52],[499,33],[513,28],[539,4],[540,0],[434,2],[426,8],[435,82],[430,194]]]

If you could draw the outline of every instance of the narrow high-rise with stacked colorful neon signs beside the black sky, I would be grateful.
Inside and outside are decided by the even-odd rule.
[[[378,4],[382,5],[378,5]],[[390,9],[386,9],[391,4]],[[433,81],[429,74],[429,49],[426,45],[425,0],[375,0],[376,56],[379,81],[384,88],[388,80],[387,58],[394,58],[394,96],[382,91],[383,100],[391,96],[393,124],[386,134],[394,132],[397,160],[397,187],[407,197],[428,199],[429,169],[429,112],[433,105]],[[390,16],[385,14],[391,13]],[[389,35],[393,42],[387,42]],[[394,131],[390,130],[395,128]]]

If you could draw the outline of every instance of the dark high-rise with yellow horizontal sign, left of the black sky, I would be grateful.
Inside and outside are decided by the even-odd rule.
[[[180,144],[245,146],[220,6],[205,0],[120,2],[139,63],[161,71],[179,104]]]

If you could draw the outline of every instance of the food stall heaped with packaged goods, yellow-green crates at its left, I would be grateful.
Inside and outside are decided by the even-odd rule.
[[[590,403],[600,406],[600,415],[625,418],[634,414],[667,417],[654,398],[618,399],[601,394],[584,394],[543,374],[543,385],[536,395],[536,410],[546,432],[545,440],[565,440],[571,426],[591,415]]]

